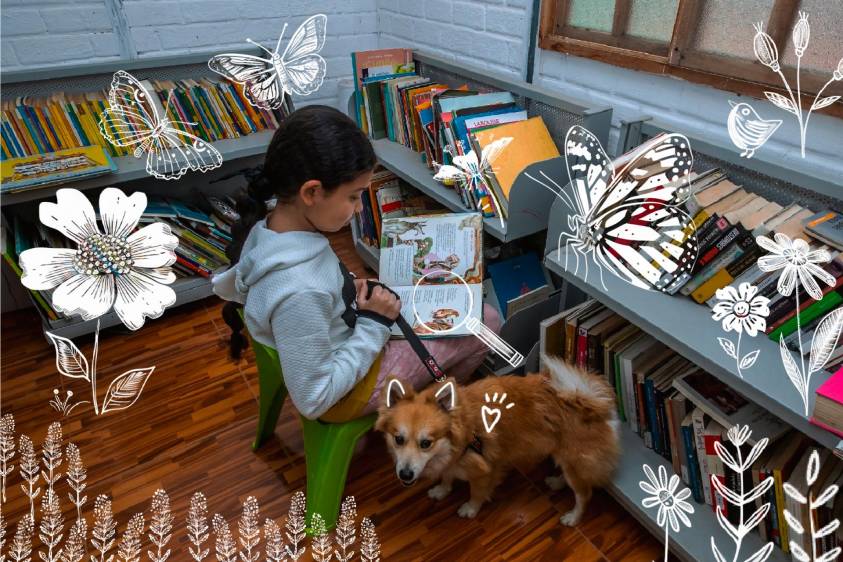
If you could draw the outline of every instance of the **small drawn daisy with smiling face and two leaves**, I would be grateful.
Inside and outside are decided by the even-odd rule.
[[[758,332],[767,328],[767,316],[770,314],[770,299],[758,294],[758,287],[749,283],[741,283],[737,290],[731,285],[717,289],[717,299],[720,301],[712,310],[712,319],[722,321],[723,330],[737,332],[737,344],[728,338],[717,338],[720,347],[726,355],[735,360],[738,375],[743,378],[743,369],[749,369],[758,359],[758,350],[751,351],[741,357],[741,336],[754,338]]]

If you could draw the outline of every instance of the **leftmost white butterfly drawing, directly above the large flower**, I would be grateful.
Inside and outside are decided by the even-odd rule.
[[[173,127],[195,123],[170,121],[167,108],[159,115],[149,92],[128,72],[114,73],[108,104],[99,123],[103,136],[116,146],[134,146],[135,158],[146,152],[146,171],[156,178],[175,180],[188,170],[207,172],[222,165],[217,149]]]

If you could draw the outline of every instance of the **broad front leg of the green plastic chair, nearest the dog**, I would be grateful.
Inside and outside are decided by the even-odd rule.
[[[307,463],[307,524],[318,513],[330,530],[337,524],[348,467],[357,441],[374,423],[363,418],[342,424],[302,420]]]

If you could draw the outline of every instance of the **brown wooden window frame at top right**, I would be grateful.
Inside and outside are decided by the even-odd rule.
[[[631,0],[615,0],[610,33],[568,26],[571,0],[542,0],[539,47],[615,66],[675,76],[758,99],[766,99],[765,91],[789,97],[778,75],[757,60],[702,53],[691,48],[704,1],[679,0],[671,39],[665,44],[625,35]],[[770,10],[764,29],[776,43],[779,53],[786,48],[798,6],[799,0],[775,0]],[[817,73],[801,69],[803,108],[810,107],[817,90],[834,70]],[[796,84],[795,68],[782,66],[782,72],[791,85]],[[829,95],[843,95],[843,81],[829,84],[823,96]],[[833,103],[817,112],[843,118],[843,103]]]

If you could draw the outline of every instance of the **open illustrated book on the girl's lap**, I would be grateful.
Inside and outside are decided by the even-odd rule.
[[[470,334],[467,319],[483,320],[480,213],[384,219],[379,280],[401,297],[401,315],[419,336]],[[397,325],[392,333],[401,336]]]

